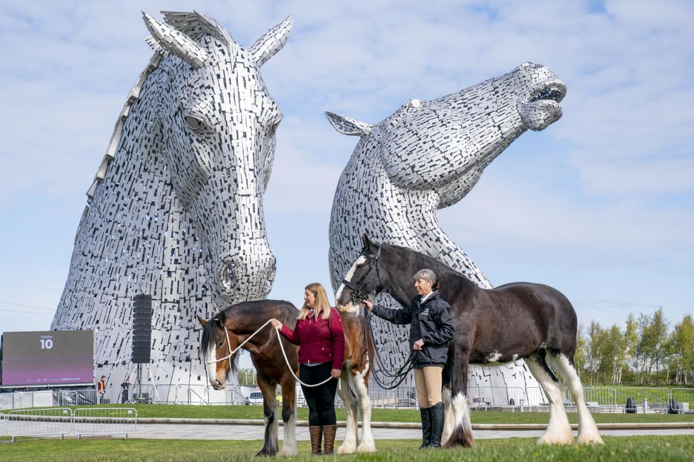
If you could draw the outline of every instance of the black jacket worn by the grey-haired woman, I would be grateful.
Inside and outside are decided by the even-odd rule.
[[[448,358],[448,342],[455,334],[455,323],[450,316],[450,305],[441,300],[438,290],[421,306],[418,295],[412,303],[402,310],[374,305],[372,313],[394,324],[409,324],[410,349],[419,339],[424,341],[421,352],[414,360],[415,367],[443,366]]]

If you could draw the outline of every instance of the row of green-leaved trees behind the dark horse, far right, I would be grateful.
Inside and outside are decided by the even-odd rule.
[[[584,385],[689,385],[694,382],[694,323],[669,328],[663,308],[630,313],[624,328],[579,326],[574,364]]]

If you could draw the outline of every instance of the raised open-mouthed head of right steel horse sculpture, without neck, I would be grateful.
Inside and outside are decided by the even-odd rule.
[[[443,98],[409,100],[375,126],[326,115],[339,132],[362,137],[363,146],[377,143],[372,154],[394,186],[432,190],[441,209],[461,200],[526,129],[539,131],[559,120],[566,91],[550,69],[525,63]]]

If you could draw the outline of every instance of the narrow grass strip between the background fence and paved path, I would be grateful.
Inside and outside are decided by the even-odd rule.
[[[124,405],[103,405],[101,407],[118,408]],[[199,405],[166,405],[136,404],[127,405],[137,409],[137,417],[164,417],[190,419],[262,419],[262,406],[199,406]],[[550,415],[547,412],[501,412],[473,410],[473,424],[547,424]],[[344,420],[342,409],[337,410],[338,420]],[[598,414],[593,418],[598,423],[623,422],[694,422],[693,414]],[[297,409],[298,420],[308,420],[307,408]],[[416,409],[379,409],[372,411],[373,422],[421,422],[419,410]],[[569,413],[569,422],[576,423],[576,413]]]

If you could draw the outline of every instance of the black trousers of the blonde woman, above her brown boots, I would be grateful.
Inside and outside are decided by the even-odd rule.
[[[330,376],[332,362],[324,362],[317,366],[299,366],[299,378],[302,382],[320,383]],[[331,379],[320,386],[301,386],[304,398],[309,405],[309,425],[335,425],[335,391],[337,379]]]

